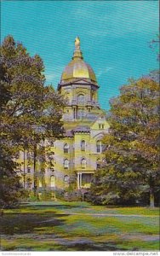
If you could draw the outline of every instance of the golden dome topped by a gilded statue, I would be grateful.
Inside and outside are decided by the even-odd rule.
[[[72,60],[65,67],[61,75],[60,84],[66,84],[77,79],[85,79],[93,84],[97,84],[92,67],[83,61],[83,53],[80,50],[80,39],[78,37],[75,39],[75,51]]]

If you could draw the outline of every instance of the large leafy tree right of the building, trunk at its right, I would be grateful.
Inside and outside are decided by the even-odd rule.
[[[106,167],[95,174],[91,191],[106,204],[132,204],[149,192],[154,207],[159,185],[158,84],[151,78],[129,82],[111,100]]]

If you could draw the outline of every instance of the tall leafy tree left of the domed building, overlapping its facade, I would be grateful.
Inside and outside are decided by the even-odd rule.
[[[31,57],[11,36],[4,39],[0,49],[0,147],[13,163],[17,150],[34,150],[45,138],[62,137],[64,103],[52,86],[44,85],[44,66],[39,55]],[[6,173],[16,177],[12,164],[10,172],[5,172],[8,160],[5,157],[1,170],[4,186]]]

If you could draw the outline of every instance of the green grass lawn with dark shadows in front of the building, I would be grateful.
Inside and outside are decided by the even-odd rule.
[[[3,251],[158,251],[158,209],[34,202],[6,210]]]

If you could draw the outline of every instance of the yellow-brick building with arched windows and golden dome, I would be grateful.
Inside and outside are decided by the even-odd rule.
[[[108,132],[106,114],[98,102],[99,85],[92,67],[83,60],[80,39],[65,67],[58,91],[66,97],[63,114],[65,137],[45,142],[45,165],[37,158],[33,168],[33,154],[21,152],[20,177],[26,189],[89,189],[93,174],[105,161],[101,139]],[[42,145],[39,145],[39,149]],[[23,159],[23,160],[22,160]],[[34,170],[33,170],[34,169]],[[54,194],[53,194],[54,195]]]

